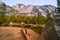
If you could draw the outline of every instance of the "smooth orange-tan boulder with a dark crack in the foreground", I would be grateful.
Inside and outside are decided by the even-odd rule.
[[[0,27],[0,40],[43,40],[39,33],[25,28]]]

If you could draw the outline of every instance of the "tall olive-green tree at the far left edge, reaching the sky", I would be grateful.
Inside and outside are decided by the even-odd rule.
[[[4,2],[0,2],[0,23],[5,22],[5,13],[6,13],[6,4]]]

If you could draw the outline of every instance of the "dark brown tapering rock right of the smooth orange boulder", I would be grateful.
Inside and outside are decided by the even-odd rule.
[[[57,32],[54,28],[53,19],[49,19],[44,27],[44,33],[46,40],[59,40]]]

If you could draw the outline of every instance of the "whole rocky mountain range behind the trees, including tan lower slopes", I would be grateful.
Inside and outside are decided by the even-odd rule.
[[[0,11],[2,11],[3,2],[0,2]],[[16,15],[25,15],[25,16],[37,16],[38,12],[41,12],[42,16],[46,17],[47,10],[49,13],[55,11],[55,7],[52,5],[24,5],[24,4],[16,4],[12,7],[6,5],[6,15],[13,15],[14,12],[18,11]]]

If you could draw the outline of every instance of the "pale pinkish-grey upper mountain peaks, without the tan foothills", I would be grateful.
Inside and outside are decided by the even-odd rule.
[[[19,13],[29,13],[30,15],[33,13],[35,16],[37,16],[38,11],[41,12],[41,14],[46,17],[47,10],[49,13],[52,11],[55,11],[55,7],[52,5],[43,5],[43,6],[36,6],[36,5],[24,5],[24,4],[17,4],[13,5],[13,8],[15,10],[18,10]]]

